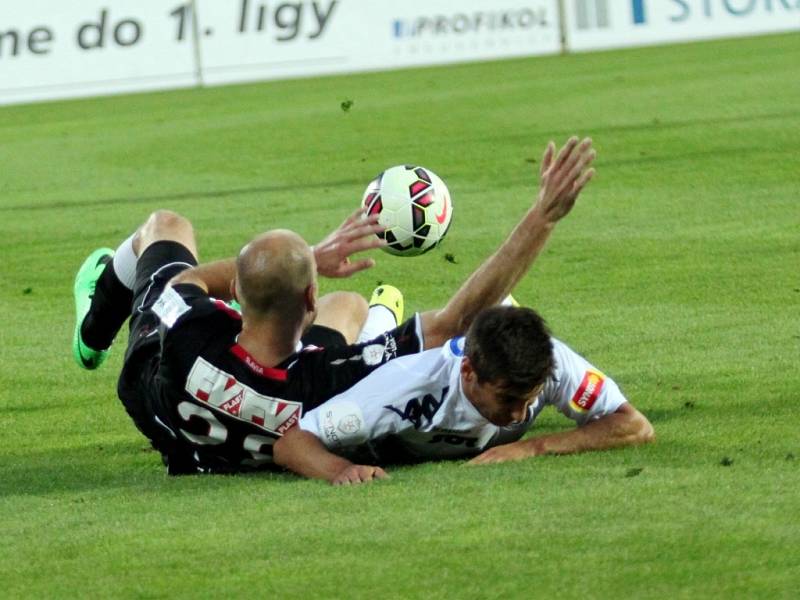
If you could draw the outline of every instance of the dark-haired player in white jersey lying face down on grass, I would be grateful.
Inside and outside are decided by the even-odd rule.
[[[547,405],[577,429],[521,440]],[[358,483],[359,470],[377,468],[347,458],[488,463],[652,438],[652,426],[617,384],[550,337],[533,310],[495,307],[467,338],[398,358],[308,412],[275,446],[275,457],[302,475]]]

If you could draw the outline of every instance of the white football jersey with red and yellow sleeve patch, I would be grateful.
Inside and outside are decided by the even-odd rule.
[[[467,399],[460,372],[464,338],[454,338],[380,367],[305,414],[300,427],[341,455],[389,441],[402,458],[458,458],[520,439],[548,404],[582,425],[626,402],[614,381],[566,344],[553,339],[553,350],[554,374],[520,423],[493,425]]]

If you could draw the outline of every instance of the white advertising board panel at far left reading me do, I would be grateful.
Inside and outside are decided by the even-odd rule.
[[[2,0],[0,103],[197,83],[162,0]]]

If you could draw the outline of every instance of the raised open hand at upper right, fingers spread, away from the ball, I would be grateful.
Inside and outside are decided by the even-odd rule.
[[[572,210],[578,194],[594,176],[591,168],[597,153],[592,139],[572,136],[556,154],[556,145],[547,144],[539,170],[541,180],[536,210],[550,223],[555,223]]]

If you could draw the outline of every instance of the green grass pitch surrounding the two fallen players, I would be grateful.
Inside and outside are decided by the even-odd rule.
[[[796,597],[798,55],[794,34],[0,108],[0,596]],[[456,203],[442,249],[322,285],[432,308],[573,132],[598,176],[516,296],[654,445],[354,488],[168,478],[116,398],[124,340],[72,362],[74,271],[154,209],[215,259],[276,226],[317,241],[424,164]]]

